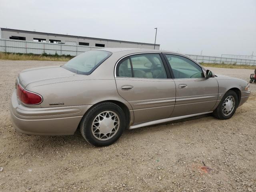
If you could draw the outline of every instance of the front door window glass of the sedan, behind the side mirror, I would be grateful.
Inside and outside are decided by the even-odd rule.
[[[204,77],[202,68],[192,60],[178,56],[166,54],[168,64],[174,73],[174,78],[202,78]]]

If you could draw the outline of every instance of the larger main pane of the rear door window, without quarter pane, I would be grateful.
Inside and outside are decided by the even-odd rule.
[[[130,56],[136,78],[166,79],[166,71],[159,54],[139,54]]]

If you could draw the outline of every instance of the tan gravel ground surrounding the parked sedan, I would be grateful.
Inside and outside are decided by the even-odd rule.
[[[0,60],[0,191],[256,191],[256,84],[229,120],[211,115],[126,130],[113,145],[14,130],[9,102],[18,72],[62,62]],[[249,80],[253,70],[210,68]],[[3,169],[2,169],[2,168]]]

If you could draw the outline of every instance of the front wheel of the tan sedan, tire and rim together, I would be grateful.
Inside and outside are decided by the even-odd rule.
[[[229,119],[238,107],[238,96],[236,92],[229,90],[223,96],[218,107],[213,111],[213,116],[218,119]]]

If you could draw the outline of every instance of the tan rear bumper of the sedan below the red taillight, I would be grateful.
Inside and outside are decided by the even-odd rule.
[[[18,132],[28,135],[72,135],[90,106],[30,108],[18,103],[14,91],[10,114]]]

